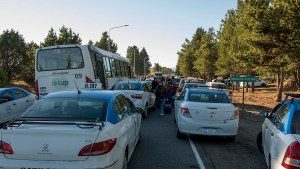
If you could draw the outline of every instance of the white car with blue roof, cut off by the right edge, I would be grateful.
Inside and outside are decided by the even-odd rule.
[[[300,168],[300,94],[287,97],[265,118],[257,135],[257,146],[264,153],[269,168]]]

